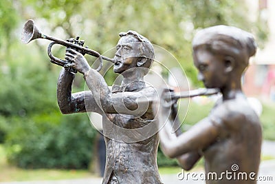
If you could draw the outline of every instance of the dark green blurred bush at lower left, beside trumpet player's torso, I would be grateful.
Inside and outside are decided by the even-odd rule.
[[[89,166],[96,130],[86,114],[62,116],[52,112],[11,121],[5,145],[11,163],[24,168]]]

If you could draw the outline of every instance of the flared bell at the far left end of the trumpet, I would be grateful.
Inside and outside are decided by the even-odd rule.
[[[21,41],[27,44],[30,41],[34,39],[39,39],[41,37],[42,34],[39,29],[36,28],[36,26],[34,25],[34,21],[32,19],[28,20],[22,30]]]

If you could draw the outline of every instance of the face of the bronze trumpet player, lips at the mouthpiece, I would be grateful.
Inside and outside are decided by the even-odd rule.
[[[113,65],[113,71],[121,74],[126,70],[136,68],[137,61],[140,59],[140,42],[131,35],[121,37],[116,45],[115,52],[115,65]],[[134,71],[134,70],[131,70]]]

